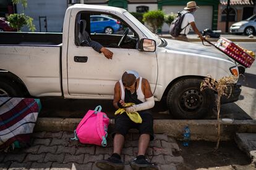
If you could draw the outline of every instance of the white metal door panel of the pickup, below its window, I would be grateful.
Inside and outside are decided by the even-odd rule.
[[[113,59],[106,59],[92,47],[69,46],[67,57],[68,91],[70,95],[101,96],[112,98],[114,84],[126,70],[136,70],[147,78],[155,89],[157,68],[155,52],[140,52],[137,49],[109,48]],[[87,62],[75,62],[74,57],[88,57]]]

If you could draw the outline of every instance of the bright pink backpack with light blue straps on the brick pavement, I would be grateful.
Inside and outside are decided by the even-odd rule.
[[[95,110],[88,110],[75,129],[75,137],[72,140],[79,140],[82,144],[106,147],[109,118],[106,113],[101,112],[101,109],[101,106],[98,105]]]

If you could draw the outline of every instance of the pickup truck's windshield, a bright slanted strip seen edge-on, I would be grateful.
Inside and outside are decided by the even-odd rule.
[[[141,22],[139,22],[139,20],[137,20],[137,18],[135,18],[132,14],[130,14],[129,12],[124,12],[124,15],[132,23],[134,23],[137,26],[137,28],[139,28],[139,30],[142,31],[142,33],[145,34],[145,36],[147,36],[147,38],[154,39],[156,41],[156,44],[161,43],[160,38],[158,38],[158,36],[156,34],[153,34],[150,30],[148,30],[148,28],[145,25],[143,25]]]

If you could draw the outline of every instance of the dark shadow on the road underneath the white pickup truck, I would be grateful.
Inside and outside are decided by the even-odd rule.
[[[97,105],[101,105],[102,111],[109,118],[114,118],[113,100],[92,100],[92,99],[62,99],[46,97],[41,99],[42,110],[40,117],[58,117],[58,118],[83,118],[88,110],[94,110]],[[217,113],[216,113],[217,114]],[[216,119],[215,115],[207,115],[205,119]],[[221,105],[221,118],[231,119],[251,119],[244,110],[236,103]],[[154,119],[174,119],[169,114],[164,103],[156,102],[153,108]]]

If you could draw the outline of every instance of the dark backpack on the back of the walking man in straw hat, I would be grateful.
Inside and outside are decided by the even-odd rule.
[[[171,36],[173,36],[173,37],[179,36],[181,31],[184,30],[184,28],[186,28],[189,25],[188,24],[184,28],[181,28],[183,19],[184,19],[185,15],[188,13],[189,12],[187,12],[186,10],[183,10],[182,12],[178,12],[177,18],[175,18],[174,21],[171,22],[171,25],[170,25],[169,33],[171,34]]]

